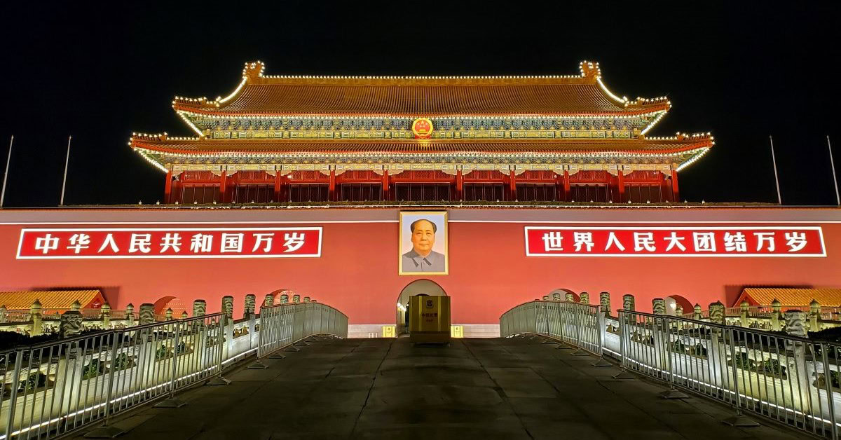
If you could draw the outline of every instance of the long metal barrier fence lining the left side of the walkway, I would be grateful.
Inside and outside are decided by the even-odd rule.
[[[234,321],[216,313],[2,351],[0,440],[57,437],[103,423],[114,430],[108,420],[116,413],[150,400],[181,406],[178,390],[207,379],[228,383],[221,378],[225,364],[264,344],[283,347],[313,334],[306,331],[347,335],[347,317],[320,303],[261,311],[265,319],[252,316],[249,325],[252,332],[261,328],[257,338],[234,338]],[[254,339],[260,346],[252,347]]]

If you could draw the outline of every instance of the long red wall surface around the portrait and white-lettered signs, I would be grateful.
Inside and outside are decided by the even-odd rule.
[[[175,296],[184,303],[292,289],[342,310],[355,324],[394,321],[400,290],[424,277],[399,276],[397,209],[49,209],[0,211],[0,290],[102,288],[112,307]],[[290,222],[290,223],[284,223]],[[350,223],[336,223],[348,221]],[[372,223],[371,221],[375,221]],[[500,222],[505,221],[505,222]],[[71,224],[66,224],[67,222]],[[324,228],[320,258],[16,260],[23,227]],[[169,223],[172,222],[172,223]],[[270,223],[271,222],[271,223]],[[828,257],[526,257],[525,225],[821,225]],[[61,223],[61,224],[60,224]],[[651,300],[680,294],[692,303],[729,303],[745,285],[841,287],[838,209],[450,209],[450,275],[428,277],[452,296],[452,321],[497,323],[510,307],[558,288]]]

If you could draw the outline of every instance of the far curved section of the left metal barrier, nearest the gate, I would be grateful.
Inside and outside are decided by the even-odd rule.
[[[313,335],[347,337],[347,316],[322,303],[287,303],[260,307],[257,358]]]

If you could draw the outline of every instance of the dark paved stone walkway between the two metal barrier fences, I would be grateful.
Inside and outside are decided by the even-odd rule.
[[[188,390],[186,406],[146,406],[114,425],[129,430],[119,438],[143,440],[798,437],[767,425],[727,427],[727,406],[660,399],[659,384],[612,379],[616,368],[541,341],[315,342],[267,369],[229,374],[230,385]]]

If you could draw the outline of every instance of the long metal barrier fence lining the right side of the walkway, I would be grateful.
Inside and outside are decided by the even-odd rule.
[[[753,423],[741,416],[750,411],[838,439],[841,343],[629,310],[618,310],[618,318],[603,317],[595,331],[593,315],[586,311],[595,306],[584,306],[557,301],[518,305],[500,316],[500,331],[503,337],[554,337],[616,358],[621,368],[675,389],[721,400],[733,406],[736,415],[727,422],[735,426]],[[598,350],[592,348],[595,335],[602,335]]]

